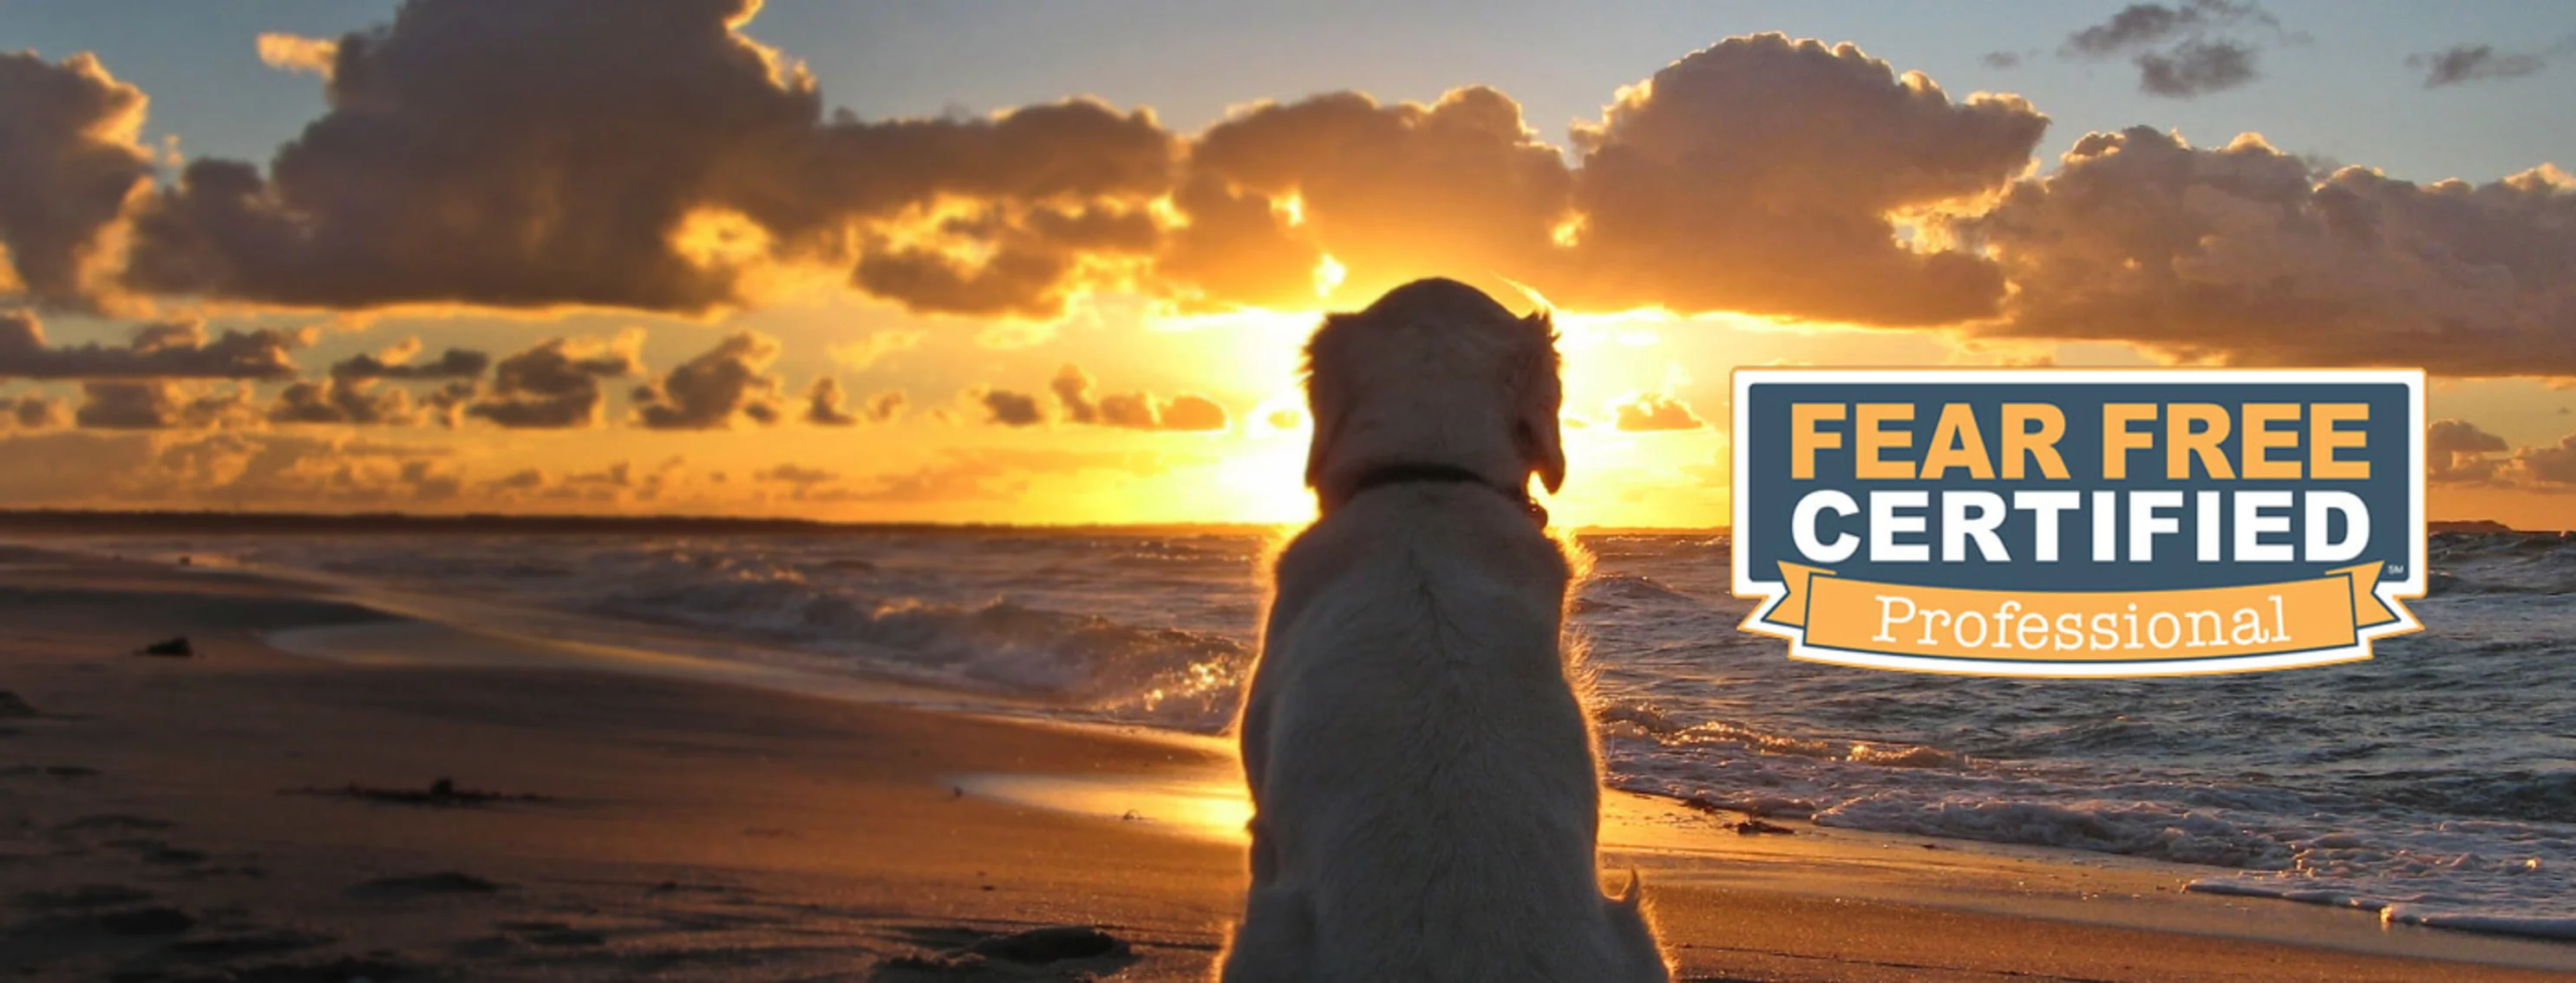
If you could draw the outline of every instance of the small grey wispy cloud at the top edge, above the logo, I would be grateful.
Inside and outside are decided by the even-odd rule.
[[[2133,3],[2066,36],[2058,46],[2071,59],[2130,57],[2138,90],[2164,98],[2195,98],[2251,82],[2257,46],[2231,39],[2231,31],[2262,26],[2280,33],[2280,21],[2257,3],[2184,0],[2177,5]]]

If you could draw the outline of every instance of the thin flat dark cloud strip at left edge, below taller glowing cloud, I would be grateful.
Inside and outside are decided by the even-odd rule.
[[[129,345],[54,347],[28,311],[0,311],[0,378],[294,378],[304,342],[278,329],[209,340],[201,322],[157,322]]]

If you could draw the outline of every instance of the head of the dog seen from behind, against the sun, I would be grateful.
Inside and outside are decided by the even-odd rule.
[[[1360,476],[1453,466],[1499,489],[1566,481],[1556,327],[1458,280],[1414,280],[1306,342],[1306,484],[1337,507]]]

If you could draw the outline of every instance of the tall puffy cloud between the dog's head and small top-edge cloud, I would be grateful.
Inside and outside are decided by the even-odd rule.
[[[1989,317],[2004,296],[1994,265],[1909,250],[1888,216],[2004,188],[2045,126],[2020,98],[1953,103],[1850,44],[1728,39],[1574,134],[1582,278],[1533,283],[1579,309]]]

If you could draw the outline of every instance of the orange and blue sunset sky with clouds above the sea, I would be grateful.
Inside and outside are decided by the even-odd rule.
[[[1736,365],[2403,365],[2576,525],[2576,8],[0,0],[0,507],[1293,522],[1298,347],[1556,311],[1569,525]]]

